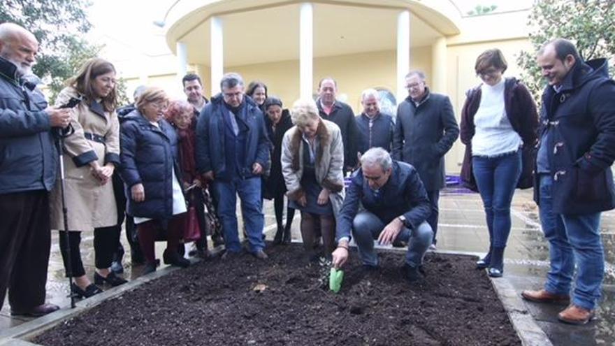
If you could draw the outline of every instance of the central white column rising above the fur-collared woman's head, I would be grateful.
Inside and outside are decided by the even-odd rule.
[[[299,13],[299,95],[301,99],[312,99],[313,21],[312,3],[302,3]]]

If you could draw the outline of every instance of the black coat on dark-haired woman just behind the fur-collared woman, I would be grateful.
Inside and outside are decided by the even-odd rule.
[[[273,131],[273,124],[269,117],[265,117],[265,126],[271,141],[271,173],[265,180],[265,198],[271,199],[286,192],[286,183],[282,176],[282,139],[286,131],[293,127],[293,121],[289,111],[284,109],[275,131]]]

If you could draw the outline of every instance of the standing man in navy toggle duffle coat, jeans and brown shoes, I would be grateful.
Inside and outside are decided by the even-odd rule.
[[[605,59],[584,62],[562,38],[544,45],[537,63],[549,85],[542,94],[534,192],[551,270],[544,289],[522,296],[571,301],[558,318],[585,324],[594,316],[605,275],[600,212],[615,207],[615,82]]]

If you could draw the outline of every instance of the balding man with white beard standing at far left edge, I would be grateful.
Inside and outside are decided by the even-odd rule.
[[[48,192],[57,174],[53,127],[67,127],[70,110],[48,107],[24,81],[38,52],[31,32],[0,24],[0,308],[8,289],[11,315],[42,316],[51,245]]]

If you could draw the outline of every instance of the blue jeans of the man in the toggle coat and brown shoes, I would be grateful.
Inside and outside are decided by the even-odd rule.
[[[572,303],[588,310],[600,298],[605,277],[605,253],[600,238],[600,212],[584,215],[553,212],[551,187],[553,178],[540,175],[540,222],[544,238],[549,241],[551,270],[544,289],[554,294],[570,294],[570,284],[577,264],[577,282]]]

